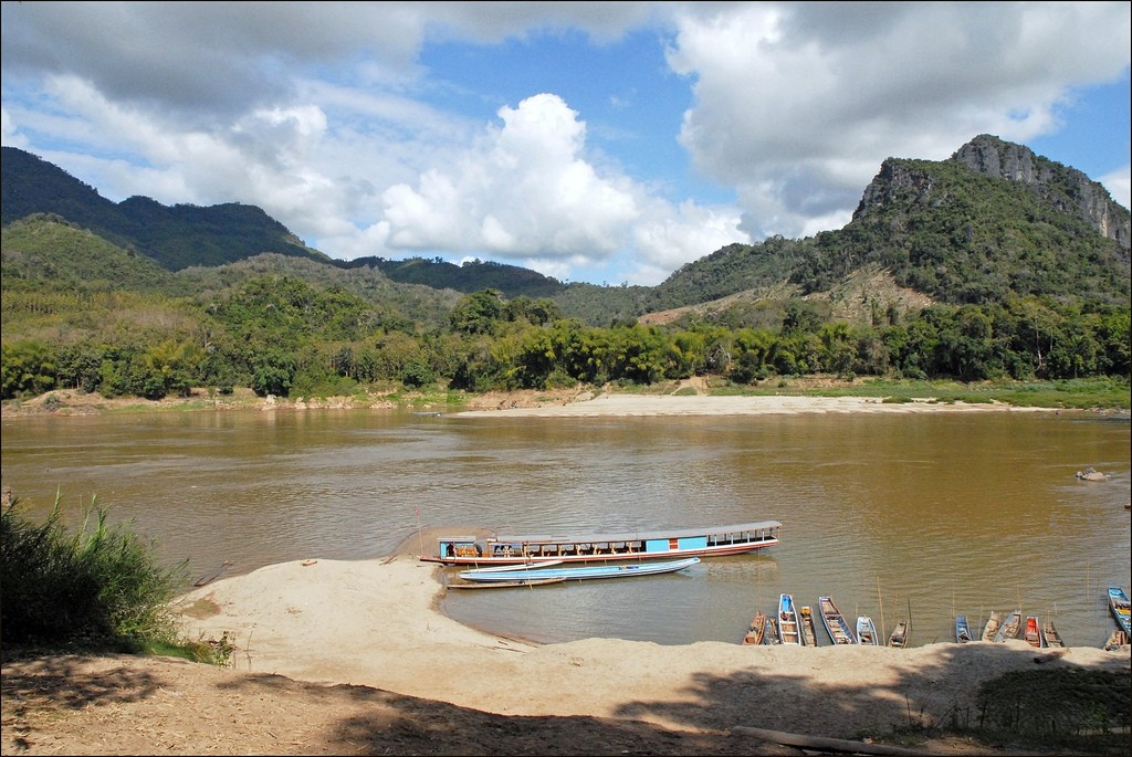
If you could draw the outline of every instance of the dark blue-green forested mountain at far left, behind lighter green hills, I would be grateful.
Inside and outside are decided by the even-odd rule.
[[[235,203],[168,207],[148,197],[113,203],[62,169],[16,147],[3,147],[3,225],[40,213],[89,229],[168,270],[218,266],[263,252],[329,260],[258,207]]]

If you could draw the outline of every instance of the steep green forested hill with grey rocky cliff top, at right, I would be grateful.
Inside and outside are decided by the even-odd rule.
[[[651,292],[650,311],[739,292],[830,292],[863,269],[934,301],[1052,296],[1126,304],[1127,208],[1083,173],[983,135],[946,161],[889,158],[852,221],[803,240],[731,244]]]

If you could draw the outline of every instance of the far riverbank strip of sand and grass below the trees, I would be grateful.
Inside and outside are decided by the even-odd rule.
[[[600,404],[599,404],[600,401]],[[664,404],[657,404],[663,401]],[[576,407],[572,407],[577,405]],[[563,407],[572,407],[561,411]],[[1092,411],[1127,415],[1132,394],[1127,386],[1107,380],[1004,382],[901,382],[875,379],[841,380],[832,377],[781,379],[748,387],[741,394],[719,379],[694,377],[661,381],[650,387],[618,389],[578,386],[566,389],[520,389],[470,394],[455,390],[360,392],[336,397],[257,396],[246,387],[230,394],[205,388],[187,397],[143,399],[108,398],[97,393],[54,389],[37,397],[9,399],[0,405],[2,418],[69,416],[103,413],[309,410],[415,410],[428,412],[516,411],[512,414],[749,414],[757,412],[925,412],[928,410],[1047,410]],[[534,413],[532,411],[539,411]]]

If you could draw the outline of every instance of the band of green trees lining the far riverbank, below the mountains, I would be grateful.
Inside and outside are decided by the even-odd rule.
[[[9,292],[6,317],[42,319],[54,308],[62,325],[53,333],[69,336],[5,342],[2,398],[61,388],[160,399],[194,387],[325,397],[391,385],[481,393],[692,376],[743,386],[816,373],[967,382],[1130,375],[1130,309],[1099,301],[1009,296],[847,322],[789,300],[766,327],[726,317],[597,327],[563,317],[552,300],[488,289],[464,295],[436,327],[285,275],[162,308],[139,298],[126,312],[120,293],[106,296],[75,309],[66,298]]]

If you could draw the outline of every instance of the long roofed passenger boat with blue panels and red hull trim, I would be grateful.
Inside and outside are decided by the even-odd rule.
[[[687,557],[723,557],[754,552],[779,543],[778,521],[706,528],[675,528],[575,536],[440,536],[426,562],[444,565],[517,565],[610,562]]]

